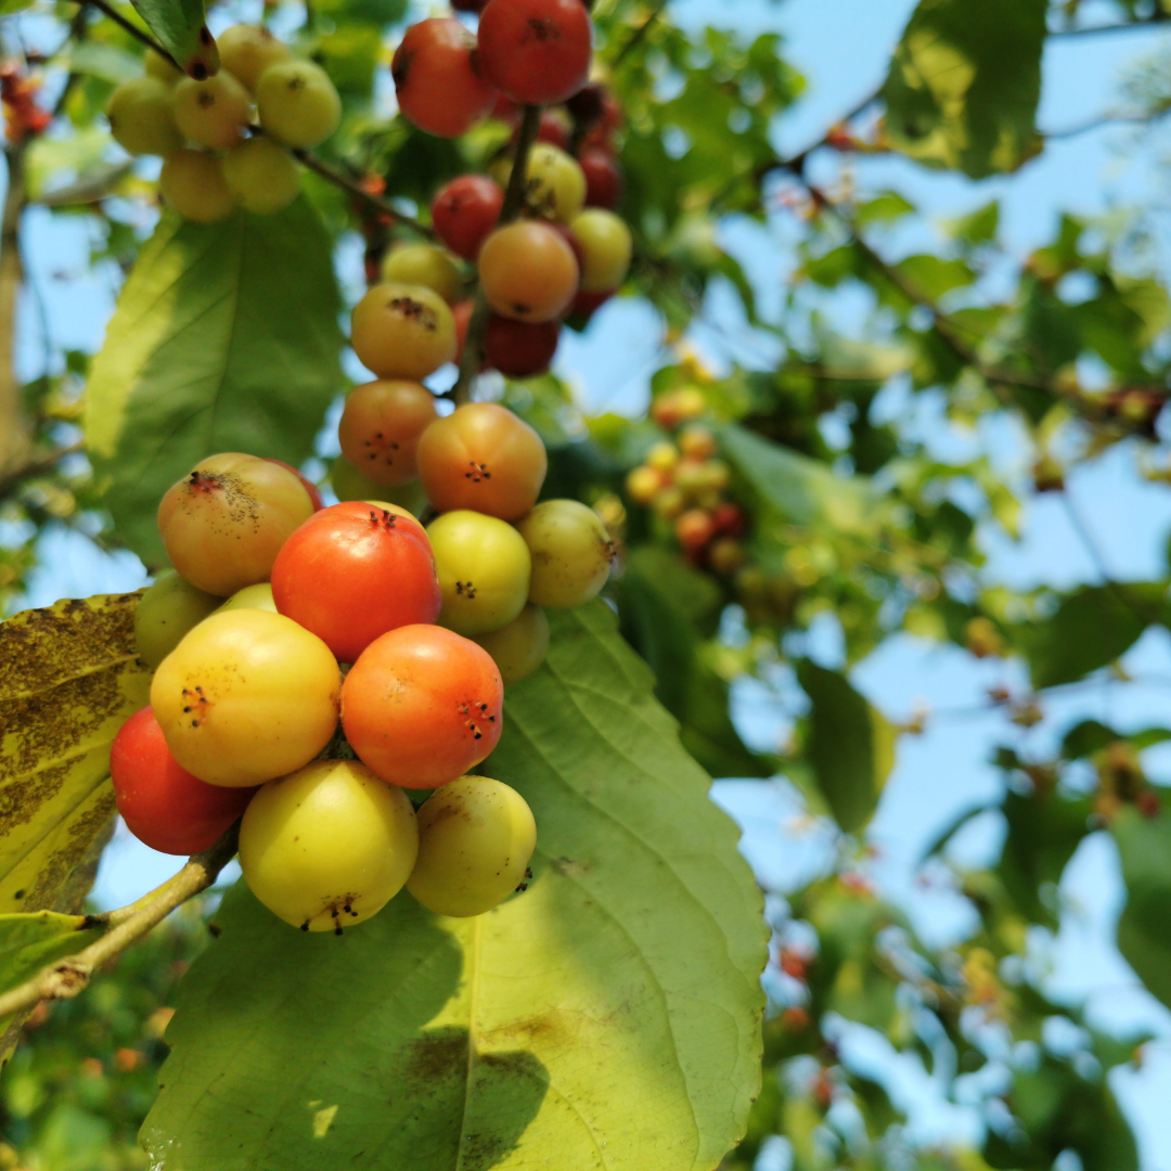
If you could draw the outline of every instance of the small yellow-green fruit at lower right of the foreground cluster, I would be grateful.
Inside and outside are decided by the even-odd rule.
[[[533,810],[488,776],[461,776],[418,812],[419,856],[406,889],[436,915],[466,918],[502,903],[523,882],[536,848]]]

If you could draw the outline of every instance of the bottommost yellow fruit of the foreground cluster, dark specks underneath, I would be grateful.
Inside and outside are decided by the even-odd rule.
[[[355,760],[315,760],[269,781],[240,824],[240,869],[274,915],[342,933],[377,915],[419,849],[406,794]]]

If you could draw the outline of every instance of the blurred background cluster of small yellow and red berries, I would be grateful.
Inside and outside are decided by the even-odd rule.
[[[731,577],[745,562],[744,509],[727,498],[731,471],[717,458],[715,433],[697,422],[706,413],[700,390],[656,398],[651,417],[672,433],[655,443],[626,475],[626,494],[669,522],[687,560]]]

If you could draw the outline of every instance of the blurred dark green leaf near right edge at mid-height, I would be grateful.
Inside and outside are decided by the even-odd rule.
[[[1074,683],[1114,663],[1156,621],[1163,594],[1156,583],[1086,586],[1068,595],[1052,618],[1019,628],[1033,686]]]

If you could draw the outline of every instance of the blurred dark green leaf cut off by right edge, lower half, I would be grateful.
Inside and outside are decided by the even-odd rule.
[[[1127,884],[1118,951],[1148,991],[1171,1007],[1171,817],[1124,808],[1110,829]]]

